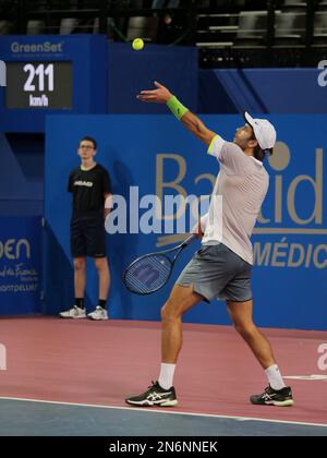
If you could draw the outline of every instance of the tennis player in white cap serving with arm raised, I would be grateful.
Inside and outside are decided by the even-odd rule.
[[[265,370],[268,387],[251,397],[254,405],[287,407],[294,403],[266,337],[253,322],[251,270],[253,264],[251,234],[268,191],[269,176],[263,165],[272,154],[276,131],[269,121],[244,113],[245,125],[227,142],[185,108],[165,86],[143,91],[144,103],[167,104],[186,129],[208,146],[208,154],[220,165],[209,212],[201,220],[202,249],[177,280],[161,310],[161,371],[158,381],[144,394],[130,397],[132,406],[177,406],[173,374],[182,348],[182,315],[198,302],[216,298],[227,301],[227,310],[237,332],[250,346]],[[222,198],[218,208],[219,198]],[[221,214],[221,218],[217,215]],[[217,221],[222,227],[217,227]],[[195,229],[194,229],[195,230]]]

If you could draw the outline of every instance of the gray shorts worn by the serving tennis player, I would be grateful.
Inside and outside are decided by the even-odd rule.
[[[213,299],[246,302],[252,299],[252,266],[225,244],[203,245],[186,265],[177,285],[193,285],[206,302]]]

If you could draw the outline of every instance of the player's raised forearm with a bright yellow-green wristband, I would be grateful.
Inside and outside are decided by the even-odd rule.
[[[182,122],[182,124],[192,132],[197,138],[209,145],[216,133],[209,131],[202,120],[184,107],[174,96],[167,101],[168,108]]]

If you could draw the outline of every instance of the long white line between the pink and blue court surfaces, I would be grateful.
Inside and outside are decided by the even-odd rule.
[[[70,406],[70,407],[88,407],[93,409],[111,409],[111,410],[126,410],[129,412],[143,412],[143,413],[166,413],[172,415],[189,415],[189,417],[205,417],[205,418],[215,418],[215,419],[227,419],[227,420],[238,420],[238,421],[257,421],[265,423],[280,423],[280,424],[294,424],[300,426],[317,426],[317,427],[327,427],[327,423],[303,423],[298,421],[286,421],[286,420],[268,420],[261,418],[251,418],[251,417],[229,417],[229,415],[215,415],[211,413],[192,413],[192,412],[175,412],[168,411],[162,409],[154,408],[137,408],[137,407],[114,407],[114,406],[100,406],[92,403],[75,403],[75,402],[61,402],[61,401],[49,401],[41,399],[24,399],[24,398],[7,398],[0,397],[0,400],[14,400],[14,401],[24,401],[24,402],[37,402],[37,403],[51,403],[57,406]],[[281,408],[280,408],[281,409]],[[284,408],[286,409],[286,408]]]

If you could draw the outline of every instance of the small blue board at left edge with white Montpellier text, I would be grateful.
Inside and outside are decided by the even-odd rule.
[[[0,315],[41,312],[41,217],[0,217]]]

